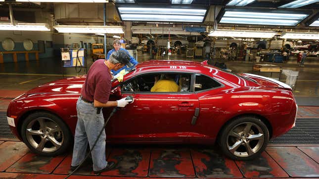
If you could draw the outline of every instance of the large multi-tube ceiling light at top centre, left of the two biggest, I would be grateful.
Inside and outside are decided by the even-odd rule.
[[[206,9],[118,7],[123,21],[203,22]]]

